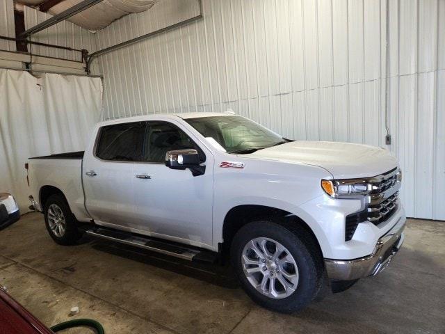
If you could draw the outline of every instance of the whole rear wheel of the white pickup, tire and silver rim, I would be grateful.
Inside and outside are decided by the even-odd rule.
[[[65,198],[51,195],[44,206],[44,221],[51,238],[60,245],[74,245],[82,234]]]

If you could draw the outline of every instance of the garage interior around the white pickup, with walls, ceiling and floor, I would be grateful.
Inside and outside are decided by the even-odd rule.
[[[22,213],[0,230],[0,285],[45,325],[445,333],[444,0],[0,0],[0,106],[0,192]],[[102,120],[227,110],[395,154],[410,218],[389,269],[282,315],[228,267],[92,237],[59,246],[30,212],[29,157],[85,150]]]

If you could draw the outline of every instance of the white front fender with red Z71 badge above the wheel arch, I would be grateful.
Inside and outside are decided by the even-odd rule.
[[[218,166],[218,164],[216,164]],[[223,241],[225,216],[239,205],[261,205],[295,214],[309,225],[319,242],[325,236],[301,205],[323,195],[320,182],[331,175],[323,168],[246,159],[245,168],[214,170],[213,246]]]

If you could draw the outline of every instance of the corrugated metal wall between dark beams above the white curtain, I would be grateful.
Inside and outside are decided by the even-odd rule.
[[[40,22],[52,17],[51,14],[42,13],[34,8],[26,6],[24,8],[26,29],[29,29],[31,26],[35,26],[36,24],[39,24]],[[49,43],[63,47],[71,47],[73,49],[87,49],[90,53],[97,50],[94,33],[91,33],[86,29],[82,29],[80,26],[76,26],[76,24],[66,20],[36,33],[32,36],[31,40],[33,42]],[[32,45],[32,50],[30,50],[30,47],[28,46],[28,51],[32,51],[33,54],[62,58],[71,61],[82,60],[81,53],[79,51],[55,49],[53,47],[42,47],[39,45]]]

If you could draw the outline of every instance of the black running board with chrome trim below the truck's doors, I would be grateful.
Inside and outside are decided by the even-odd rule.
[[[209,250],[200,251],[192,248],[186,248],[183,246],[178,246],[177,244],[171,244],[168,241],[154,240],[149,237],[137,236],[128,232],[111,230],[108,228],[92,228],[90,230],[86,230],[86,233],[102,239],[115,241],[120,244],[144,248],[147,250],[152,250],[156,253],[179,257],[180,259],[188,261],[214,263],[218,257],[217,253]]]

